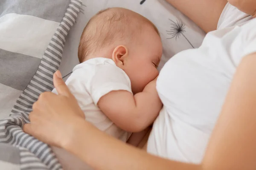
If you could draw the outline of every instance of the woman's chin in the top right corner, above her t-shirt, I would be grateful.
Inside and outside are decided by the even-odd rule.
[[[256,17],[256,0],[228,0],[228,2],[240,11]]]

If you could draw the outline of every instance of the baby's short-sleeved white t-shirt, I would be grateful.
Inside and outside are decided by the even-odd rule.
[[[66,84],[76,97],[85,119],[111,136],[126,142],[129,134],[117,127],[99,109],[99,99],[111,91],[131,91],[131,81],[112,59],[89,59],[73,69]],[[52,92],[57,93],[54,89]]]

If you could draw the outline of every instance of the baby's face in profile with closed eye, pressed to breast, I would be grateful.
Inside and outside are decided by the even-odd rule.
[[[163,50],[161,39],[154,28],[143,29],[140,36],[137,47],[129,50],[129,59],[124,68],[134,94],[143,91],[158,76],[157,66]]]

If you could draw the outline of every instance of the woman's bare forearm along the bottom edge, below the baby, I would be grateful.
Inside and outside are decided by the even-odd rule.
[[[77,123],[72,141],[63,146],[95,170],[199,170],[199,165],[184,164],[152,156],[96,129],[90,123]],[[88,140],[90,139],[90,140]]]

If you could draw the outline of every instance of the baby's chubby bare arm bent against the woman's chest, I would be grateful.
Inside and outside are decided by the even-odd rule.
[[[140,132],[151,125],[162,108],[156,90],[156,79],[138,94],[111,91],[102,96],[99,108],[118,127],[128,132]]]

